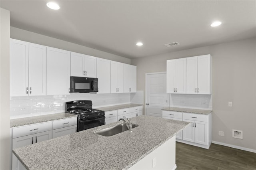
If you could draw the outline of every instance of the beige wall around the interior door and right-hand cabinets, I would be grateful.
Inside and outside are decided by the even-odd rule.
[[[145,73],[166,71],[166,60],[212,55],[212,140],[256,150],[256,39],[222,43],[132,59],[137,65],[137,90],[145,91]],[[228,101],[233,107],[228,107]],[[232,129],[244,139],[232,138]],[[225,136],[218,136],[224,131]]]

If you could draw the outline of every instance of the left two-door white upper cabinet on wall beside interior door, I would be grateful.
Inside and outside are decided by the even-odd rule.
[[[167,93],[186,93],[186,58],[167,60]]]

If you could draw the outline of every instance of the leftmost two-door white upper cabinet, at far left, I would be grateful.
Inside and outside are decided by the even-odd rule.
[[[46,47],[10,39],[10,96],[46,95]]]

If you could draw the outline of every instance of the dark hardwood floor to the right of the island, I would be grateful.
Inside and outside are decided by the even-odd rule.
[[[218,144],[209,150],[176,142],[176,170],[256,170],[256,153]]]

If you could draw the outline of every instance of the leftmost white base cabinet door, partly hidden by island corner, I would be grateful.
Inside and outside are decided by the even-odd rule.
[[[12,149],[27,146],[33,143],[34,134],[12,139]],[[18,158],[12,154],[12,170],[26,170]]]

